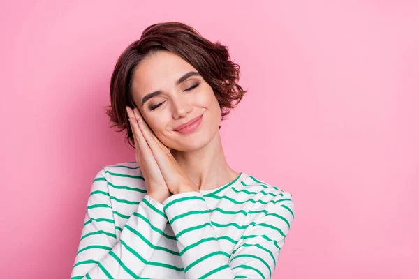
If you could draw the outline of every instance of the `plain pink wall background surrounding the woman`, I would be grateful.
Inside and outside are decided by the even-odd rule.
[[[113,66],[167,21],[240,64],[228,162],[296,206],[275,278],[419,278],[418,1],[1,6],[0,278],[69,278],[94,175],[135,160],[103,113]]]

